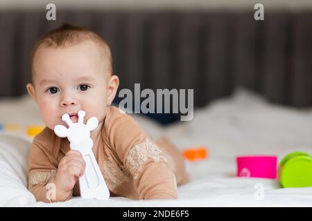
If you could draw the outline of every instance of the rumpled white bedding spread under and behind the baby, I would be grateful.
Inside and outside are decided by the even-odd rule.
[[[6,117],[10,116],[16,117]],[[182,150],[209,148],[207,160],[187,162],[190,182],[178,188],[178,200],[83,200],[35,202],[26,189],[31,142],[22,134],[0,133],[0,206],[312,206],[312,187],[281,189],[278,180],[236,177],[237,155],[312,153],[312,109],[300,111],[269,104],[246,90],[196,110],[191,122],[163,127],[132,115],[153,137],[166,135]],[[41,124],[29,97],[0,101],[0,122]],[[260,186],[263,186],[261,192]]]

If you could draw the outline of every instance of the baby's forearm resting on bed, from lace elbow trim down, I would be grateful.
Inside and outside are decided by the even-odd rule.
[[[177,199],[175,174],[166,160],[150,140],[130,148],[125,165],[134,177],[140,199]]]

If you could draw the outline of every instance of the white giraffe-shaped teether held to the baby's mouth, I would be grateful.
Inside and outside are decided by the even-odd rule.
[[[108,200],[110,191],[107,188],[103,175],[98,167],[96,158],[92,151],[93,141],[90,137],[90,131],[93,131],[98,126],[98,119],[91,117],[87,124],[83,124],[85,111],[78,111],[78,122],[73,123],[68,113],[62,115],[62,121],[69,126],[57,125],[54,128],[54,133],[58,137],[67,137],[72,150],[80,151],[85,160],[85,173],[79,177],[80,195],[83,199],[100,199]]]

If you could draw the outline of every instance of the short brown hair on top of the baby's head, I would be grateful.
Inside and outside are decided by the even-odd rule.
[[[105,68],[110,75],[112,75],[112,53],[105,39],[88,28],[64,23],[59,28],[46,33],[46,35],[41,37],[33,47],[33,50],[31,51],[31,81],[33,82],[35,53],[40,46],[45,46],[47,48],[62,48],[73,44],[79,44],[85,40],[92,40],[100,46],[103,50],[103,56],[109,61],[109,64],[105,65]]]

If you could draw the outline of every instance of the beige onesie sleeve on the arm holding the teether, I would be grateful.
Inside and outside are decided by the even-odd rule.
[[[58,140],[53,139],[48,130],[44,129],[34,138],[28,155],[28,190],[38,202],[54,202],[56,196],[53,179],[58,162],[53,155],[53,146]]]

